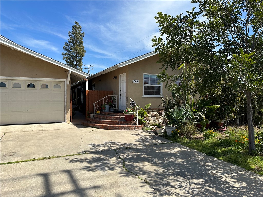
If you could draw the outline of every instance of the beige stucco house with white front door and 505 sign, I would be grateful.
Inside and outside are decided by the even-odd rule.
[[[164,88],[165,84],[158,83],[156,75],[161,71],[161,64],[156,63],[158,60],[159,55],[150,52],[114,65],[88,77],[88,89],[112,90],[114,95],[118,95],[119,110],[125,110],[125,98],[131,98],[142,108],[151,103],[150,108],[157,109],[161,96],[171,96],[171,92]],[[166,72],[171,75],[177,71]]]

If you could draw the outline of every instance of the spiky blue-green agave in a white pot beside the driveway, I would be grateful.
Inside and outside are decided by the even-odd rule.
[[[177,107],[169,109],[166,118],[169,119],[169,122],[167,123],[167,126],[165,126],[165,130],[167,135],[171,136],[172,131],[180,127],[181,123],[186,120],[184,109],[179,110]]]

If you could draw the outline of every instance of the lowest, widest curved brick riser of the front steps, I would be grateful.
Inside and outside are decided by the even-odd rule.
[[[88,122],[82,122],[83,126],[86,127],[95,127],[99,129],[108,129],[108,130],[135,130],[135,129],[141,129],[141,126],[135,126],[135,125],[103,125],[103,124],[93,124]]]

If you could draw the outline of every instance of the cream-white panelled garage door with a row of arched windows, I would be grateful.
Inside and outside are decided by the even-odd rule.
[[[1,79],[0,123],[65,122],[65,81]]]

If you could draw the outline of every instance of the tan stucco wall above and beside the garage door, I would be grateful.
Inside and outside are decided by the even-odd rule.
[[[0,45],[0,76],[67,79],[67,69]],[[66,122],[70,123],[70,85],[66,86]]]

